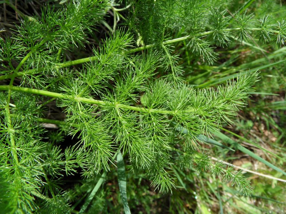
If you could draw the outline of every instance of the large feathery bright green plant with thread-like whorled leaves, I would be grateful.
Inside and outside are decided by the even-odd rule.
[[[258,79],[247,72],[217,88],[194,89],[184,81],[174,45],[186,41],[193,60],[212,64],[232,37],[283,45],[286,23],[269,16],[255,21],[202,1],[128,1],[126,28],[110,32],[88,58],[65,60],[84,48],[110,2],[81,0],[63,8],[43,7],[41,17],[26,17],[11,38],[0,40],[1,144],[0,207],[7,213],[70,213],[61,177],[82,170],[94,179],[110,170],[117,150],[132,171],[145,172],[160,192],[172,191],[172,165],[210,171],[249,196],[241,173],[201,154],[200,134],[209,135],[245,105]],[[209,27],[205,27],[209,26]],[[175,35],[175,36],[174,36]],[[174,37],[173,37],[174,36]],[[135,38],[134,38],[135,37]],[[137,38],[136,38],[137,37]],[[134,47],[136,39],[144,46]],[[71,66],[82,64],[81,69]],[[50,120],[45,105],[56,100],[65,120]],[[44,142],[42,123],[59,125],[78,136],[61,151]]]

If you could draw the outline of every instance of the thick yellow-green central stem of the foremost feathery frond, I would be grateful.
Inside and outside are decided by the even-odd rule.
[[[72,96],[72,95],[66,95],[61,93],[55,93],[55,92],[49,92],[44,90],[38,90],[33,88],[24,88],[24,87],[18,87],[18,86],[9,86],[4,85],[0,86],[0,91],[19,91],[24,93],[31,93],[31,94],[39,94],[49,97],[55,97],[55,98],[64,98],[64,99],[70,99],[74,101],[80,101],[85,102],[89,104],[96,104],[98,106],[106,106],[106,105],[113,105],[115,108],[121,108],[126,110],[133,110],[138,112],[146,112],[146,113],[158,113],[158,114],[180,114],[180,113],[191,113],[191,112],[198,112],[194,108],[188,108],[188,110],[183,111],[170,111],[170,110],[162,110],[162,109],[147,109],[147,108],[141,108],[136,106],[130,106],[125,104],[118,104],[118,103],[111,103],[111,102],[104,102],[102,100],[95,100],[93,98],[84,98],[84,97],[78,97],[78,96]]]

